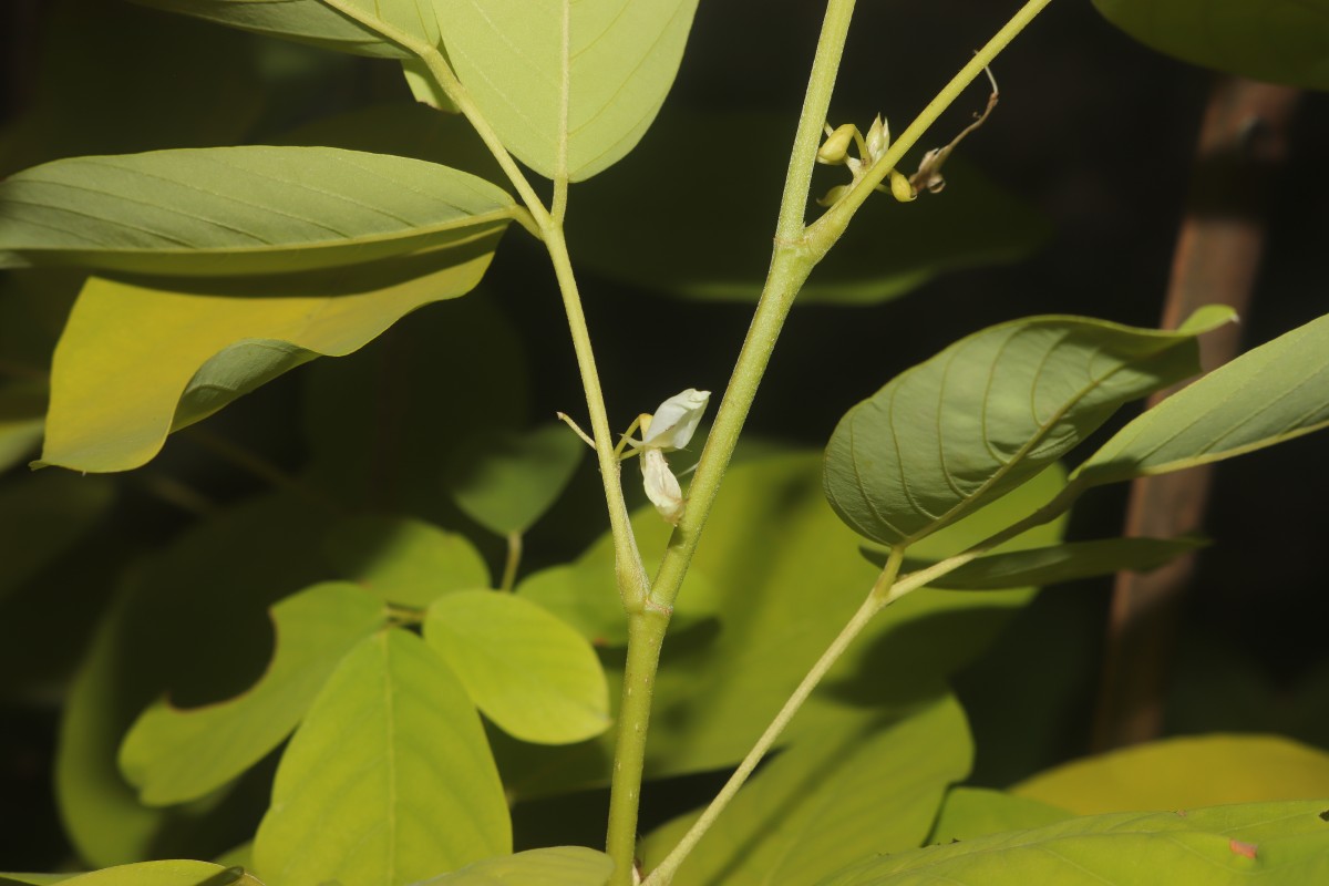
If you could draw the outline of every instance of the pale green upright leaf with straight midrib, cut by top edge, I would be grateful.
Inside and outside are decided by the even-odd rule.
[[[504,145],[578,182],[623,158],[678,73],[696,0],[435,0],[457,76]]]

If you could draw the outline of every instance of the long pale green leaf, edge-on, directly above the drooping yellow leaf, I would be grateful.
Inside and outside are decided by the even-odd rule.
[[[0,182],[0,267],[286,274],[465,246],[516,211],[468,173],[336,147],[76,157]]]

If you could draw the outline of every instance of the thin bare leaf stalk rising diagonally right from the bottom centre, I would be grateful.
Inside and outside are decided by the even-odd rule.
[[[812,691],[817,688],[821,679],[831,671],[835,663],[840,660],[840,656],[844,655],[844,651],[849,648],[849,644],[857,639],[857,636],[863,632],[863,628],[868,627],[872,616],[880,612],[882,607],[888,606],[886,592],[894,583],[896,575],[900,573],[900,563],[902,559],[904,549],[893,549],[890,551],[885,569],[881,570],[881,575],[872,586],[872,592],[868,594],[863,606],[859,607],[859,611],[855,612],[853,618],[845,623],[845,626],[840,630],[840,634],[831,642],[831,646],[828,646],[825,652],[821,654],[821,658],[812,665],[812,669],[809,669],[807,676],[803,677],[803,681],[799,683],[799,687],[784,703],[784,707],[780,708],[780,712],[775,715],[773,720],[771,720],[771,725],[768,725],[766,732],[762,733],[762,737],[756,740],[756,744],[752,745],[751,751],[748,751],[748,754],[743,758],[743,762],[739,764],[739,768],[734,770],[734,774],[730,776],[730,780],[724,782],[720,793],[715,796],[715,800],[712,800],[711,805],[706,808],[702,817],[692,824],[678,845],[670,850],[670,854],[664,857],[664,861],[655,866],[650,877],[646,878],[643,886],[668,886],[668,883],[674,879],[674,874],[678,873],[679,866],[692,851],[696,843],[700,842],[702,837],[706,836],[706,832],[710,830],[711,825],[715,824],[715,820],[720,816],[720,813],[724,812],[724,808],[730,805],[730,801],[738,794],[739,789],[748,780],[748,776],[751,776],[752,770],[756,769],[756,765],[762,762],[762,757],[764,757],[766,753],[775,745],[776,739],[779,739],[780,733],[784,732],[784,728],[789,725],[789,721],[793,720],[799,708],[801,708],[803,703],[808,700]]]

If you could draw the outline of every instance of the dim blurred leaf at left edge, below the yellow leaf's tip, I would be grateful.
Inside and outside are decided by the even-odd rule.
[[[0,489],[0,599],[64,554],[110,507],[101,477],[36,474]]]

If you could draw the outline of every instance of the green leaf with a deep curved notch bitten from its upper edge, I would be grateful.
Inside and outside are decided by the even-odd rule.
[[[179,709],[161,699],[134,723],[120,769],[149,806],[197,800],[276,748],[342,658],[383,624],[383,604],[354,584],[327,582],[271,610],[276,648],[245,695]]]

